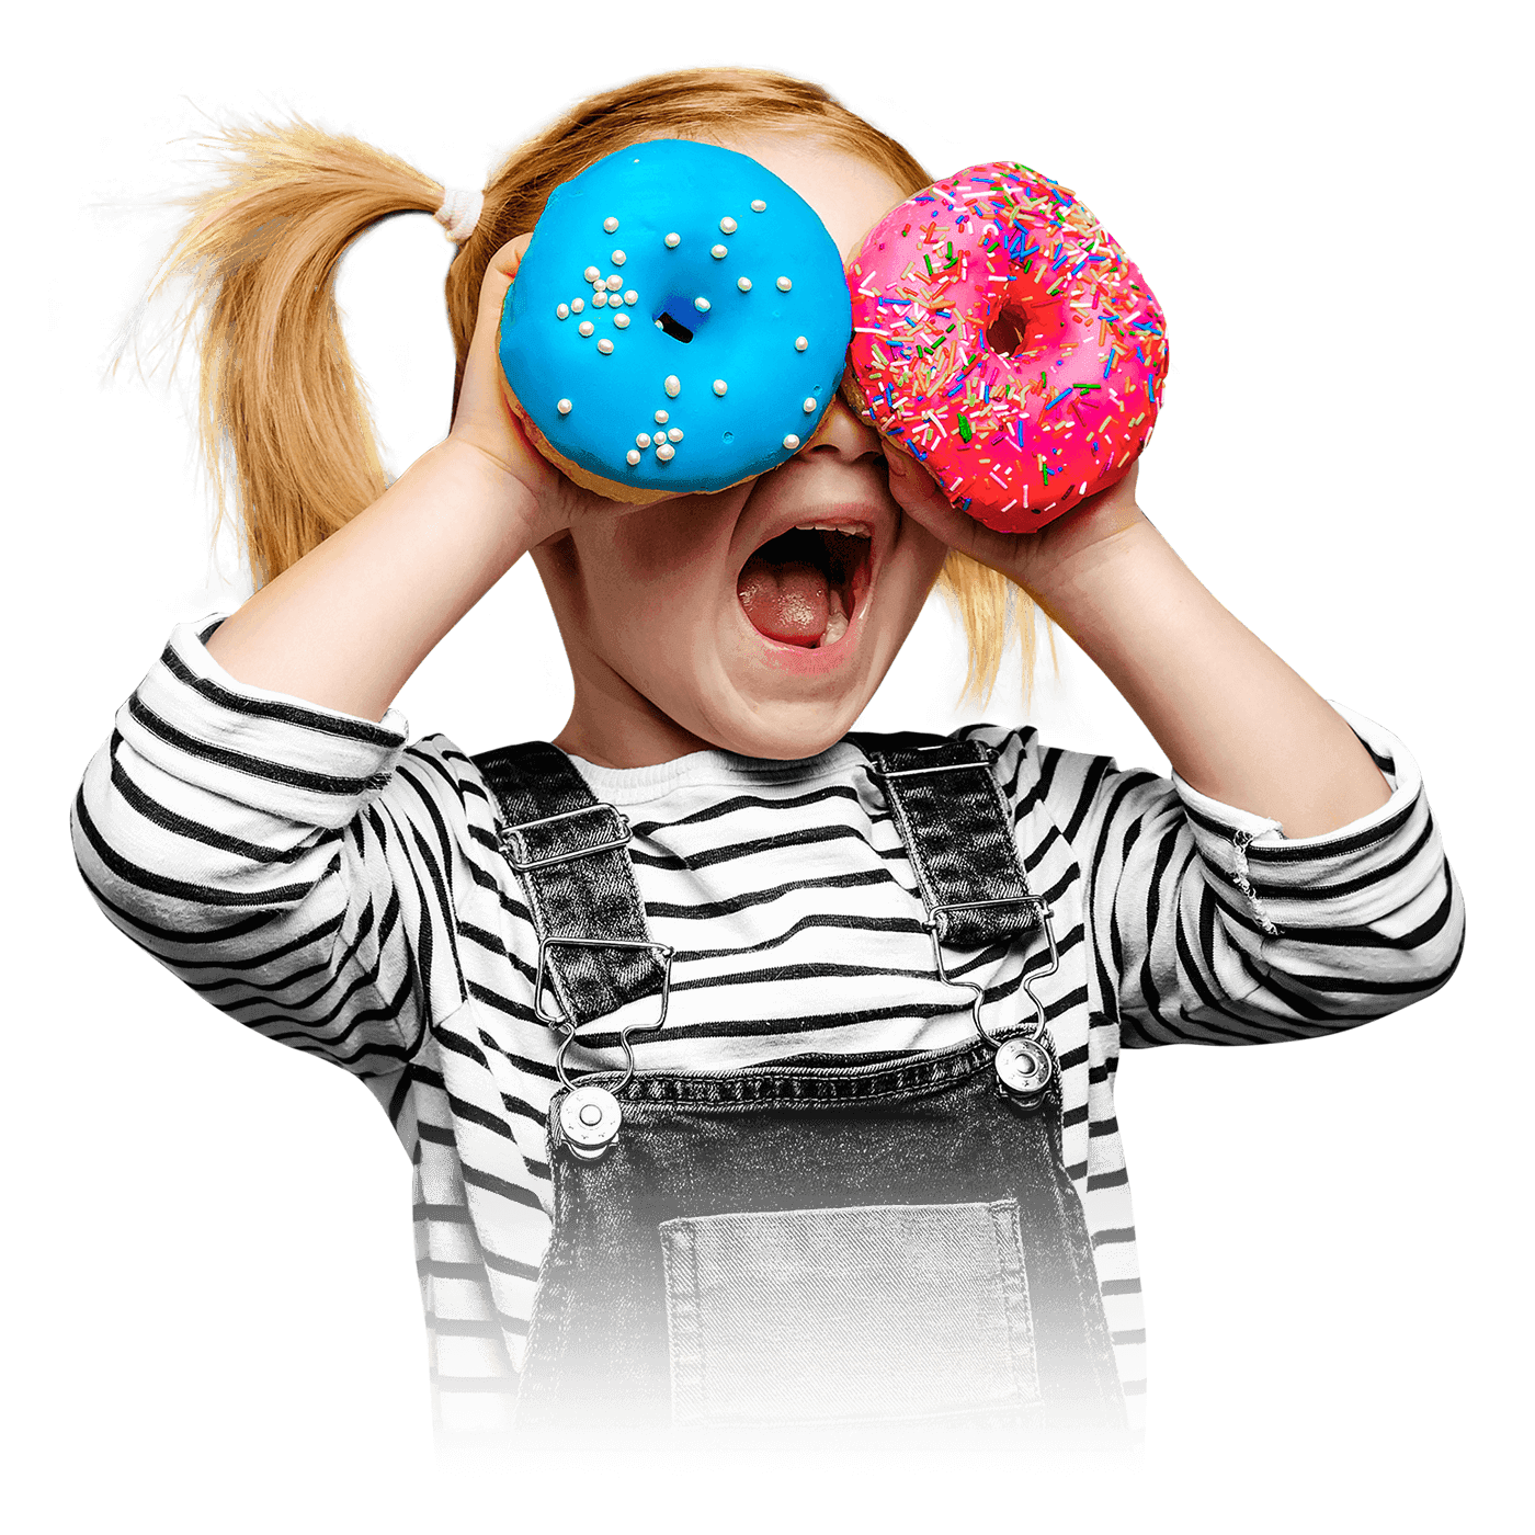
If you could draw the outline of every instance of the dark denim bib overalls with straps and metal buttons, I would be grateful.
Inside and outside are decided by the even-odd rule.
[[[1055,938],[975,741],[850,737],[870,760],[944,947]],[[841,1437],[953,1431],[1128,1443],[1091,1248],[1061,1160],[1059,1068],[1035,1016],[903,1056],[574,1082],[577,1030],[655,999],[625,844],[569,760],[474,758],[540,935],[539,1016],[562,1036],[550,1105],[554,1234],[514,1423]],[[969,985],[952,981],[955,985]],[[559,1012],[546,1012],[553,992]]]

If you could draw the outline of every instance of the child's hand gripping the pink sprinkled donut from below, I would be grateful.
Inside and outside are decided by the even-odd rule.
[[[933,477],[909,453],[889,439],[881,445],[890,467],[890,494],[907,516],[950,548],[1012,577],[1047,609],[1051,588],[1068,569],[1147,520],[1136,503],[1139,460],[1108,490],[1088,496],[1038,533],[998,533],[952,507]]]

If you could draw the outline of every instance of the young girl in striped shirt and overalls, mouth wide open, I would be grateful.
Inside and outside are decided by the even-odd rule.
[[[533,450],[497,324],[550,192],[717,143],[850,256],[932,175],[824,86],[629,80],[482,198],[301,121],[210,138],[126,330],[180,295],[252,594],[124,705],[77,860],[135,942],[390,1114],[434,1423],[1139,1432],[1119,1051],[1314,1038],[1444,984],[1460,893],[1406,748],[1205,591],[1133,471],[1010,536],[843,401],[780,468],[642,510]],[[457,375],[388,484],[335,282],[399,213],[457,246]],[[866,550],[840,635],[791,632],[761,551],[798,528]],[[407,746],[396,694],[523,554],[574,677],[559,751]],[[1027,725],[850,738],[930,597],[958,714],[1013,663],[1027,718],[1038,603],[1173,778]]]

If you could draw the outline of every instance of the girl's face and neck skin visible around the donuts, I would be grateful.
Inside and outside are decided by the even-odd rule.
[[[803,140],[748,137],[726,147],[787,181],[844,259],[906,196],[864,161]],[[752,559],[809,523],[869,536],[801,533],[797,548],[780,543]],[[774,758],[824,751],[857,723],[946,553],[903,517],[878,436],[841,401],[769,474],[583,523],[534,551],[576,683],[559,744],[614,768],[709,746]],[[786,639],[763,634],[743,597],[757,625]]]

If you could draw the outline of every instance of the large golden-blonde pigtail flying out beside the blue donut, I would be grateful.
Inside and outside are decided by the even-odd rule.
[[[353,134],[301,117],[192,135],[206,180],[166,200],[184,216],[117,335],[147,381],[195,361],[187,421],[209,497],[250,589],[376,500],[393,477],[338,284],[347,252],[398,213],[436,213],[444,187]],[[150,338],[146,348],[140,344]]]

